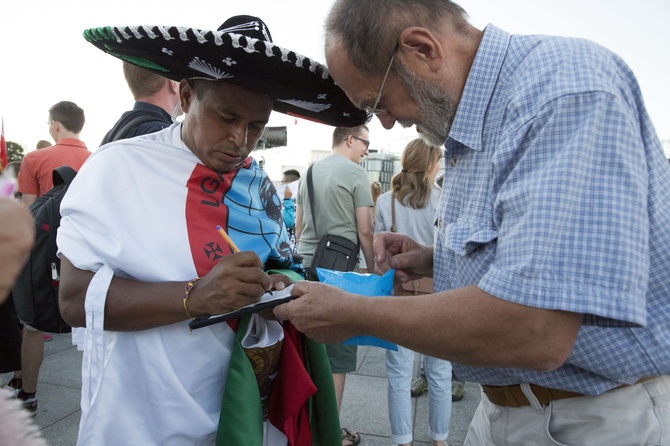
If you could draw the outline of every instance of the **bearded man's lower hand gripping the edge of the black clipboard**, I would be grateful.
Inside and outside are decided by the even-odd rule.
[[[331,285],[301,281],[293,286],[291,295],[297,297],[274,308],[279,320],[289,320],[296,329],[311,339],[324,343],[339,343],[360,334],[368,299],[347,293]]]

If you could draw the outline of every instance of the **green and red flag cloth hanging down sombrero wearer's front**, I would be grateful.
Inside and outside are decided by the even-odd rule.
[[[240,321],[224,390],[217,446],[261,446],[260,395],[251,364],[240,345],[248,316]],[[323,344],[284,322],[284,347],[278,382],[270,400],[270,421],[288,446],[342,444],[333,378]]]

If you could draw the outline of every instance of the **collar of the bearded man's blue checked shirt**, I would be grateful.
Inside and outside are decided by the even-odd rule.
[[[486,26],[445,143],[447,150],[453,142],[476,151],[484,149],[482,132],[486,113],[507,54],[509,39],[509,33],[491,24]]]

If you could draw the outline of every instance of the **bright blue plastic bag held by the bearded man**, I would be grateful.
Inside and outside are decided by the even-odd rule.
[[[317,268],[316,275],[319,282],[336,286],[344,291],[363,296],[392,296],[394,270],[389,270],[383,276],[376,274],[361,274],[354,272],[333,271]],[[397,351],[398,346],[392,342],[374,336],[354,336],[342,343],[343,345],[370,345]]]

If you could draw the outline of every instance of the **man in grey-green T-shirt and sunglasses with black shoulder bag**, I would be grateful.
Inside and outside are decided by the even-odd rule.
[[[319,236],[326,234],[346,237],[359,242],[366,264],[372,265],[372,195],[370,181],[361,159],[370,145],[368,127],[336,127],[333,130],[332,153],[312,165],[314,183],[314,218],[307,190],[306,175],[300,182],[296,206],[296,238],[298,252],[305,268],[312,265]],[[318,180],[317,180],[318,179]],[[340,411],[347,373],[356,370],[357,347],[331,343],[326,345],[333,372],[337,410]],[[344,445],[358,444],[360,435],[342,428]]]

